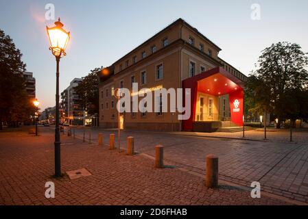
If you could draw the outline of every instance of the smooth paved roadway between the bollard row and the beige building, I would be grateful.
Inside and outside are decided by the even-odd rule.
[[[116,130],[75,129],[86,138],[91,130],[93,141],[104,133],[108,144],[109,133]],[[154,146],[165,146],[164,157],[169,162],[204,174],[205,157],[219,156],[220,179],[250,186],[259,181],[264,191],[308,203],[308,143],[261,142],[225,138],[179,136],[171,133],[123,131],[121,146],[126,147],[127,136],[134,136],[135,148],[140,153],[154,156]],[[305,135],[303,135],[305,136]]]

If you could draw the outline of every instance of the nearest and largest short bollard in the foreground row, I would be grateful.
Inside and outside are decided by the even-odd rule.
[[[218,157],[215,155],[206,155],[206,179],[207,188],[218,187]]]

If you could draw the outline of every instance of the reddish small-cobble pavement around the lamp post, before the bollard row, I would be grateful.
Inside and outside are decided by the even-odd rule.
[[[106,145],[67,136],[61,137],[62,172],[86,168],[92,175],[54,179],[54,131],[40,127],[39,133],[36,137],[21,131],[0,132],[1,205],[290,204],[263,194],[251,198],[250,191],[228,183],[207,189],[202,176],[183,171],[181,166],[156,169],[154,160],[146,155],[128,156],[110,151]],[[155,139],[160,140],[158,136]],[[47,181],[55,183],[55,198],[45,198]]]

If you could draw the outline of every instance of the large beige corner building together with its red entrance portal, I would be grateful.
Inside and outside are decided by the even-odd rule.
[[[121,129],[215,131],[241,125],[247,77],[218,57],[220,51],[182,18],[171,23],[99,74],[99,127],[117,127],[114,91],[131,91],[132,83],[139,90],[191,88],[191,117],[178,120],[178,112],[162,112],[162,107],[159,112],[123,112]]]

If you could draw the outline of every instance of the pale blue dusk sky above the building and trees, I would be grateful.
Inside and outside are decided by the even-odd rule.
[[[60,91],[74,77],[108,66],[177,18],[183,18],[215,42],[220,57],[248,75],[261,50],[272,42],[297,42],[308,51],[308,1],[27,1],[0,0],[0,28],[23,53],[36,77],[40,108],[55,105],[56,62],[48,50],[45,5],[71,31],[67,56],[60,61]],[[252,3],[261,19],[250,18]]]

